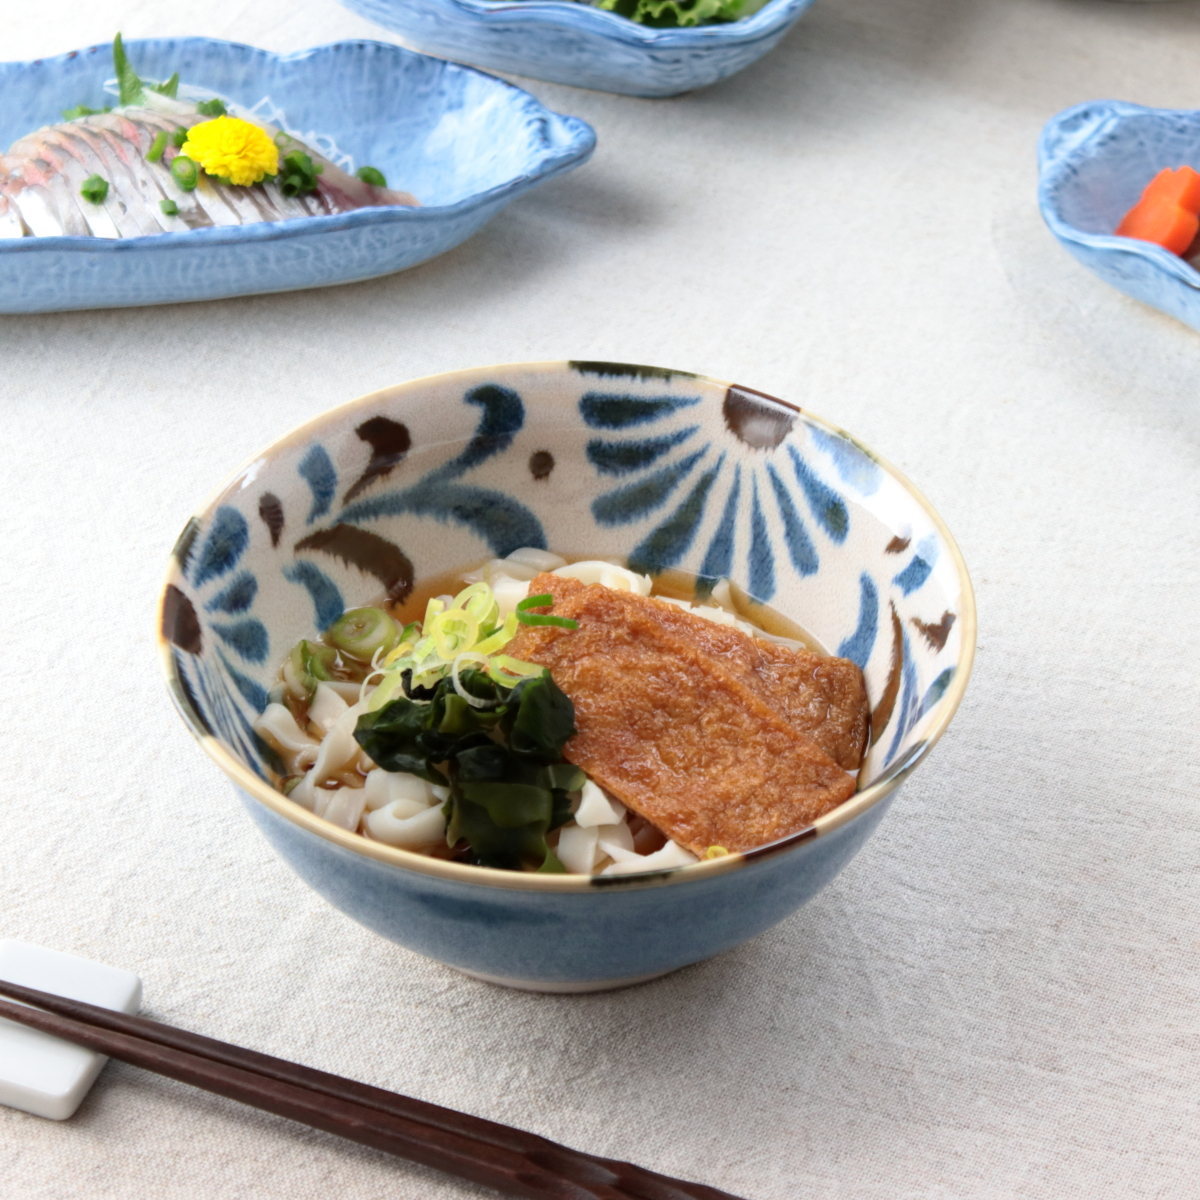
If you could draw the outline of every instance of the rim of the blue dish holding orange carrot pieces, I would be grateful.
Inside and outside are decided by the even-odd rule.
[[[1097,120],[1092,122],[1086,138],[1074,142],[1064,152],[1057,152],[1055,143],[1062,126],[1090,113],[1096,114]],[[1186,287],[1200,290],[1200,271],[1196,271],[1178,254],[1172,254],[1169,250],[1156,246],[1153,242],[1138,241],[1135,238],[1118,238],[1115,233],[1088,233],[1067,221],[1060,214],[1056,204],[1056,193],[1066,179],[1093,157],[1090,146],[1098,134],[1105,133],[1126,118],[1147,115],[1160,119],[1187,115],[1200,121],[1200,109],[1148,108],[1123,100],[1090,100],[1064,108],[1061,113],[1051,116],[1038,142],[1038,173],[1040,176],[1038,180],[1038,208],[1042,211],[1043,221],[1061,241],[1075,242],[1079,246],[1104,251],[1108,254],[1128,254],[1133,258],[1140,258],[1152,263]]]

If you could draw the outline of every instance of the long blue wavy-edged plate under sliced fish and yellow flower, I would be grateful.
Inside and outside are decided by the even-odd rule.
[[[530,187],[584,162],[595,133],[528,92],[454,62],[382,42],[296,54],[203,37],[127,42],[150,79],[178,71],[246,107],[264,98],[296,132],[330,137],[420,208],[368,208],[232,228],[109,241],[0,239],[0,312],[55,312],[347,283],[414,266],[475,233]],[[112,47],[0,64],[0,148],[112,103]]]

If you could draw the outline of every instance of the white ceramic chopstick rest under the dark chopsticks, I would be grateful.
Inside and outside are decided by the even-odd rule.
[[[28,942],[0,941],[0,979],[121,1013],[142,1003],[142,980],[132,971]],[[92,1050],[0,1019],[0,1104],[65,1121],[104,1062]]]

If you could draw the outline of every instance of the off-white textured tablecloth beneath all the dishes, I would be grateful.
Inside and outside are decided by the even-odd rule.
[[[386,38],[329,0],[0,7],[6,59],[116,28]],[[139,972],[161,1019],[748,1200],[1198,1195],[1200,340],[1033,196],[1048,116],[1195,104],[1198,54],[1194,0],[822,0],[692,96],[530,84],[595,160],[407,274],[0,318],[0,934]],[[852,430],[956,534],[980,640],[944,742],[809,907],[546,997],[302,887],[172,712],[151,626],[190,511],[284,430],[566,356]],[[115,1063],[70,1122],[0,1110],[0,1164],[23,1200],[484,1196]]]

